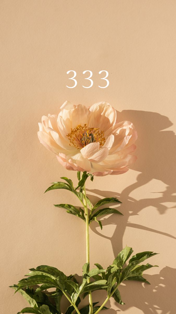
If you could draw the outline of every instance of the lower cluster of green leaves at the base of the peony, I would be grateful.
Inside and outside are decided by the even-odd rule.
[[[104,269],[96,263],[96,268],[89,270],[89,263],[83,266],[82,282],[78,283],[74,275],[66,276],[57,268],[41,265],[30,269],[30,272],[18,282],[11,286],[18,291],[28,301],[31,307],[26,307],[20,313],[35,314],[61,314],[60,301],[65,296],[70,301],[70,306],[65,314],[71,314],[75,311],[79,314],[88,314],[89,305],[80,307],[80,296],[84,298],[90,291],[106,290],[107,298],[113,297],[119,304],[125,304],[121,300],[118,290],[119,285],[124,280],[136,280],[144,283],[149,282],[143,278],[143,271],[157,266],[141,264],[144,260],[157,253],[140,252],[130,258],[128,265],[124,266],[131,256],[133,250],[126,246],[114,259],[113,263]],[[90,281],[90,282],[89,282]],[[38,288],[34,286],[40,285]],[[30,288],[29,288],[30,287]],[[52,292],[48,289],[54,288]],[[44,292],[45,291],[45,292]],[[93,313],[99,312],[101,306],[93,303]],[[78,310],[78,306],[80,309]],[[107,309],[105,306],[101,309]]]

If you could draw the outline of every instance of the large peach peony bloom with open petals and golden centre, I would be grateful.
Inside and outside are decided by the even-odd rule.
[[[131,155],[137,131],[129,121],[116,122],[106,102],[87,108],[65,101],[59,115],[42,117],[38,137],[66,169],[94,176],[125,173],[137,159]]]

